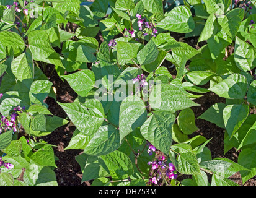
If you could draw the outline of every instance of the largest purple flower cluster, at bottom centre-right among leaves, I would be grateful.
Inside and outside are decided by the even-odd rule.
[[[165,175],[162,174],[166,174],[166,176],[169,179],[176,179],[177,178],[177,174],[175,173],[175,167],[172,163],[169,163],[167,165],[166,163],[166,157],[164,157],[164,155],[161,155],[158,160],[155,161],[149,161],[148,165],[151,165],[152,170],[156,171],[156,176],[149,178],[149,183],[148,184],[157,184],[158,181],[164,177]],[[161,171],[162,170],[162,171]],[[149,174],[150,176],[152,176],[152,173]]]

